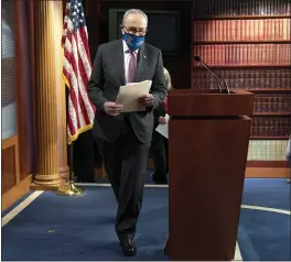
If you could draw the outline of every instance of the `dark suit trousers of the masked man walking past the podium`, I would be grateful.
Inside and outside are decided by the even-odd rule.
[[[118,209],[115,228],[119,240],[133,239],[142,206],[150,143],[141,143],[129,121],[114,142],[104,142],[105,170],[114,189]]]

